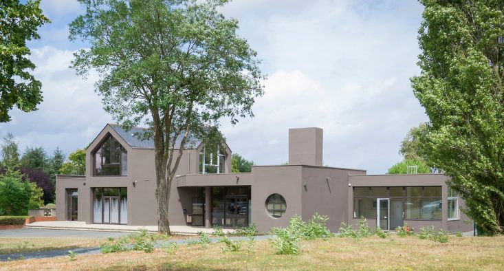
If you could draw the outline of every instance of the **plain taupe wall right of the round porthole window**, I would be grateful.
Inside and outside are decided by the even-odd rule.
[[[341,222],[347,221],[348,217],[349,174],[365,173],[362,170],[303,166],[303,220],[310,219],[314,213],[327,215],[327,226],[331,231],[338,232]]]

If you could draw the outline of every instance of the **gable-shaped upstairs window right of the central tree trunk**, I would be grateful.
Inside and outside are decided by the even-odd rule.
[[[224,173],[226,153],[220,144],[205,146],[199,151],[199,173]]]

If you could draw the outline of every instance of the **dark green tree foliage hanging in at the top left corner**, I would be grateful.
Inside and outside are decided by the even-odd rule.
[[[35,65],[26,46],[26,41],[40,38],[36,30],[49,22],[40,2],[0,1],[0,122],[10,120],[14,105],[29,112],[42,101],[42,85],[28,72]]]

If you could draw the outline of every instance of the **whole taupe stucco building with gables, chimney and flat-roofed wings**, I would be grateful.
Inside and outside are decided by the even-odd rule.
[[[154,146],[138,140],[135,129],[107,124],[86,150],[86,175],[56,176],[59,220],[157,225]],[[293,215],[309,219],[319,213],[330,217],[333,232],[359,217],[384,230],[405,223],[472,230],[460,212],[463,200],[446,186],[446,176],[366,175],[360,169],[322,166],[322,138],[319,128],[289,129],[289,164],[252,166],[251,173],[230,172],[225,142],[205,146],[191,138],[172,184],[170,224],[238,228],[256,223],[266,232],[287,226]]]

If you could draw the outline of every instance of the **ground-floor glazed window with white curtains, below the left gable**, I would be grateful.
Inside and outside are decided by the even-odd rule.
[[[93,188],[93,222],[127,224],[128,188]]]

